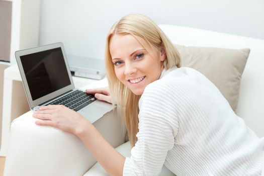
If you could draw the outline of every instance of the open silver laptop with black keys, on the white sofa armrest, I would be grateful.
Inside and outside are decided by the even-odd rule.
[[[16,51],[29,106],[64,105],[94,123],[113,109],[94,95],[75,89],[62,43]]]

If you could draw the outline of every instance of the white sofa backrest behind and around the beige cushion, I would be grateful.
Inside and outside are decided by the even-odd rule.
[[[236,114],[259,136],[264,136],[264,40],[202,29],[159,25],[173,44],[241,49],[250,48],[242,74]]]

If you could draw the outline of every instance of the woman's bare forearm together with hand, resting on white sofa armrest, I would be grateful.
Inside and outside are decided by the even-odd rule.
[[[40,107],[37,125],[51,126],[78,136],[110,175],[122,175],[125,157],[117,152],[88,120],[62,105]]]

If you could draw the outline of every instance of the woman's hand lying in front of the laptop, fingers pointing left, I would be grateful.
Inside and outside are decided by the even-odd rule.
[[[38,111],[34,111],[33,117],[41,119],[35,122],[37,125],[55,127],[74,135],[80,133],[87,123],[90,123],[80,114],[63,105],[40,107]]]

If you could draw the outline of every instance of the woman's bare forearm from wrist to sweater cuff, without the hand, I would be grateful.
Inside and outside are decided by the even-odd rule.
[[[125,157],[104,139],[94,125],[85,121],[76,135],[110,175],[122,175]]]

